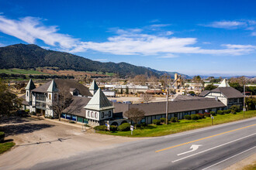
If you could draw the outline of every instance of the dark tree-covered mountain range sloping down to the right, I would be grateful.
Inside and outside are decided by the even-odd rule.
[[[33,69],[36,67],[58,67],[60,70],[96,71],[116,73],[120,77],[146,74],[147,76],[161,76],[167,73],[174,78],[176,72],[158,71],[144,66],[134,66],[129,63],[102,63],[93,61],[71,53],[43,49],[34,44],[15,44],[0,47],[0,69]],[[179,73],[178,73],[179,74]],[[185,78],[189,76],[182,74]]]

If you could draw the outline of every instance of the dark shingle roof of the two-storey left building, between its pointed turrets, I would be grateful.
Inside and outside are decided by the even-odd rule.
[[[88,87],[85,87],[81,83],[78,83],[74,80],[54,79],[54,81],[57,84],[57,88],[59,90],[67,90],[67,92],[69,93],[71,88],[76,88],[79,90],[81,95],[92,97],[92,93],[90,93],[90,91],[88,90]],[[32,91],[40,92],[40,93],[47,93],[47,89],[49,88],[51,82],[52,81],[49,81],[49,82],[43,84],[42,86],[37,87],[36,89],[34,89]]]

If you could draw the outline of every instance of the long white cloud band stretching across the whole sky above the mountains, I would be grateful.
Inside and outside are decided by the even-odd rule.
[[[164,25],[157,25],[164,26]],[[196,38],[170,36],[173,32],[145,34],[144,29],[116,29],[116,36],[105,42],[82,42],[69,35],[58,33],[57,26],[43,26],[38,18],[6,19],[0,15],[0,31],[28,43],[41,39],[55,49],[71,53],[92,50],[116,55],[144,55],[170,58],[176,54],[244,55],[255,51],[251,45],[226,44],[220,49],[202,49]]]

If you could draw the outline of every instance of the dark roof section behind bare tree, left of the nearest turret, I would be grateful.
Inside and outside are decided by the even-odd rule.
[[[72,103],[69,107],[62,112],[65,114],[74,114],[77,116],[85,117],[85,106],[91,98],[88,97],[72,97]]]

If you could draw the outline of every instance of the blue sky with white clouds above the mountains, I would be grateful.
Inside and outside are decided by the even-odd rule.
[[[255,8],[254,0],[0,0],[0,46],[190,76],[256,76]]]

